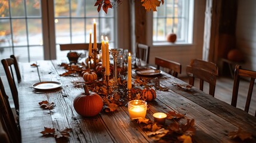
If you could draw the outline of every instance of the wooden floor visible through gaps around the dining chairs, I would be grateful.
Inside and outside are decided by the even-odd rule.
[[[7,94],[10,97],[10,104],[12,107],[14,107],[13,100],[11,97],[11,91],[7,82],[7,78],[5,76],[4,69],[2,67],[2,64],[0,64],[0,76],[1,79],[4,82],[5,85],[5,90],[7,91]],[[189,79],[187,77],[179,77],[181,80],[189,83]],[[196,80],[195,86],[198,88],[199,87],[199,82]],[[245,101],[248,93],[248,87],[249,87],[249,82],[242,80],[240,82],[239,86],[239,97],[238,97],[238,108],[244,109],[245,107]],[[208,85],[204,87],[204,91],[208,93]],[[218,77],[217,79],[217,86],[215,89],[215,98],[218,100],[227,102],[228,104],[231,103],[232,99],[232,89],[233,89],[233,79],[231,77]],[[249,108],[249,114],[254,115],[256,110],[256,86],[254,88],[254,92],[252,92],[252,100],[251,100],[251,105]]]

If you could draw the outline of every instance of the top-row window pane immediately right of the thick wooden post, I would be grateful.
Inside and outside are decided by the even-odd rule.
[[[55,0],[54,1],[55,17],[66,16],[69,17],[69,0]]]

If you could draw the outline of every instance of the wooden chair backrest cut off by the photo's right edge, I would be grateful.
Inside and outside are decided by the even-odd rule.
[[[255,78],[256,78],[256,71],[245,70],[245,69],[242,69],[242,67],[240,65],[236,65],[235,75],[234,75],[232,101],[231,101],[231,105],[233,105],[234,107],[236,107],[236,103],[238,102],[238,89],[239,89],[240,77],[249,77],[250,78],[250,85],[249,85],[248,95],[247,95],[246,104],[245,104],[245,111],[248,113],[249,106],[251,103],[251,98],[252,98],[252,91],[254,88],[254,82],[255,82]],[[254,116],[256,117],[256,111],[255,111]]]

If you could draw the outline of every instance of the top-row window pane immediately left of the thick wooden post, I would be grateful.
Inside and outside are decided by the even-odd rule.
[[[41,16],[41,4],[39,0],[27,0],[26,10],[27,16]]]

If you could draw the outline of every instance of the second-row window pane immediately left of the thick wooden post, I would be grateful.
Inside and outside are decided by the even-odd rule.
[[[29,30],[29,45],[42,45],[42,23],[41,19],[27,20]]]

